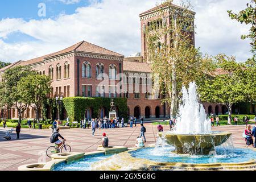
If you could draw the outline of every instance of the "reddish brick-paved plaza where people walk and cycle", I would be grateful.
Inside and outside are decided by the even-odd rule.
[[[146,139],[148,144],[156,143],[158,137],[157,125],[147,123]],[[95,151],[101,144],[102,133],[105,132],[109,137],[110,146],[134,147],[135,140],[140,135],[141,127],[126,127],[120,129],[96,130],[95,137],[92,137],[91,129],[70,129],[61,130],[60,133],[67,144],[72,147],[73,152]],[[7,129],[9,130],[9,129]],[[164,131],[168,126],[164,126]],[[242,132],[245,126],[220,126],[213,127],[217,131],[230,131],[233,136],[235,147],[245,147],[245,140],[242,138]],[[16,133],[12,134],[12,140],[4,139],[5,129],[0,129],[0,170],[17,170],[19,166],[29,163],[38,163],[49,161],[46,157],[46,149],[52,144],[49,142],[52,130],[28,130],[22,129],[20,139],[16,140]]]

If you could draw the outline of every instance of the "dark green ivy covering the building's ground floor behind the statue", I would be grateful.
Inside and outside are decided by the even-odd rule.
[[[63,99],[63,105],[71,121],[80,121],[84,119],[85,110],[89,108],[92,109],[93,118],[98,118],[101,108],[105,109],[106,114],[109,113],[112,99],[118,108],[118,116],[127,121],[127,98],[67,97]]]

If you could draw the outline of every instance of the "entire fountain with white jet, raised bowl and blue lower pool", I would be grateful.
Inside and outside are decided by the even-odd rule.
[[[231,133],[211,130],[204,107],[197,102],[196,84],[189,84],[188,90],[183,86],[182,92],[174,130],[159,133],[155,147],[129,148],[115,154],[81,153],[73,162],[60,160],[65,156],[53,156],[54,160],[44,165],[55,171],[255,170],[256,150],[234,148]]]

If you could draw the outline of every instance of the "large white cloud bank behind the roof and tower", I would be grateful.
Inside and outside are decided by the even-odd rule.
[[[71,0],[59,0],[66,3]],[[76,0],[77,1],[77,0]],[[75,1],[73,1],[75,2]],[[139,14],[156,5],[157,0],[103,0],[92,1],[74,14],[59,15],[55,19],[0,20],[0,60],[27,60],[35,56],[59,51],[81,40],[111,49],[123,55],[141,51]],[[240,0],[192,0],[195,6],[196,46],[211,55],[224,52],[245,60],[249,43],[240,35],[248,28],[230,20],[226,10],[241,10]],[[19,31],[40,41],[5,43],[11,32]],[[1,40],[2,39],[2,40]]]

